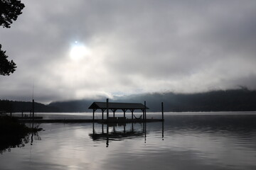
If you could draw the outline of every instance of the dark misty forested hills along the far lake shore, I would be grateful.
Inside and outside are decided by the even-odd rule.
[[[87,112],[88,107],[93,101],[105,101],[106,98],[99,100],[80,100],[80,101],[58,101],[43,105],[35,104],[36,112]],[[174,93],[154,93],[136,94],[130,96],[115,97],[110,102],[132,102],[144,103],[150,108],[149,111],[161,111],[161,102],[164,102],[165,111],[186,112],[186,111],[256,111],[256,91],[247,89],[228,90],[228,91],[209,91],[198,94],[174,94]],[[0,101],[0,111],[4,108],[11,109],[12,112],[30,110],[31,102],[23,101]]]

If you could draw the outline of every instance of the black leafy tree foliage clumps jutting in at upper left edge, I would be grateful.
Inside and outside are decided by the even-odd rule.
[[[24,4],[18,0],[0,0],[0,26],[11,28],[11,23],[16,21],[24,7]],[[0,75],[9,76],[10,73],[14,73],[16,64],[13,60],[11,62],[7,60],[8,56],[5,52],[1,50],[0,44]]]

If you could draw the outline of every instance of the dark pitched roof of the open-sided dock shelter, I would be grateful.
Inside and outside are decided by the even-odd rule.
[[[142,103],[108,103],[109,109],[145,109]],[[89,109],[107,109],[107,102],[93,102]],[[149,109],[146,107],[146,109]]]

